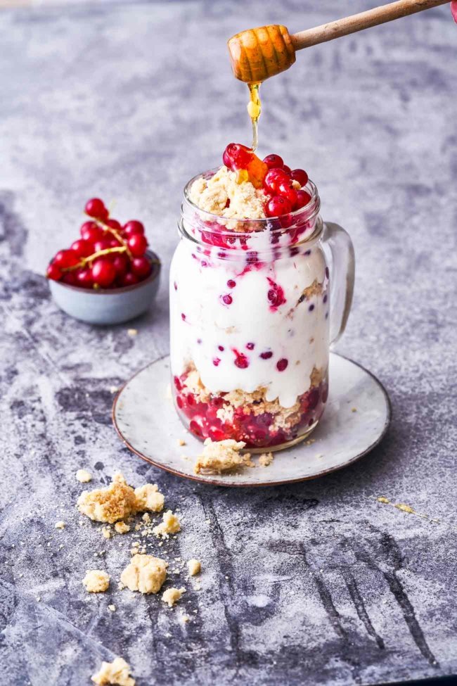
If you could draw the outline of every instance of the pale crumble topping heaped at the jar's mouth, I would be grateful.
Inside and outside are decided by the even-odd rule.
[[[266,196],[250,181],[238,183],[239,175],[222,166],[211,179],[200,177],[191,186],[189,197],[205,212],[235,219],[264,219]]]

